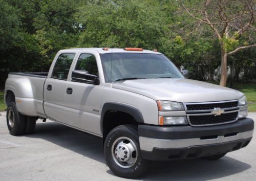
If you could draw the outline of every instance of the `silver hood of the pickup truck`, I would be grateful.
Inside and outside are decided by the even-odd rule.
[[[182,103],[236,100],[243,93],[219,85],[190,79],[139,79],[112,84],[113,88],[137,93],[154,100]]]

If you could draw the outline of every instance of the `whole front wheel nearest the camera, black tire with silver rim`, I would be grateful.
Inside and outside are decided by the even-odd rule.
[[[104,142],[104,157],[109,168],[124,178],[141,176],[151,163],[142,159],[139,135],[131,125],[117,126],[109,132]]]

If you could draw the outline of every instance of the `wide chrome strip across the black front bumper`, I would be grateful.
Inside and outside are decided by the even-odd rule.
[[[200,138],[193,139],[180,139],[180,140],[162,140],[146,137],[139,137],[140,149],[144,151],[153,151],[154,148],[172,149],[172,148],[187,148],[190,146],[209,145],[217,143],[225,143],[230,141],[236,141],[240,139],[251,138],[253,130],[240,132],[237,135],[231,137],[219,136],[216,139],[201,140]]]

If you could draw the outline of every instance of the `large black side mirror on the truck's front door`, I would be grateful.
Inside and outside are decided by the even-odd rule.
[[[99,85],[99,78],[96,75],[88,74],[87,71],[73,71],[72,80],[82,83]]]

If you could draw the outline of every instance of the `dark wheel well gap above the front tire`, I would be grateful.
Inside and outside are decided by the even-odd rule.
[[[106,135],[115,127],[130,124],[134,126],[138,126],[138,122],[135,118],[127,114],[126,112],[118,111],[118,110],[108,110],[104,114],[103,124],[102,124],[102,132],[103,132],[103,141],[106,138]]]

